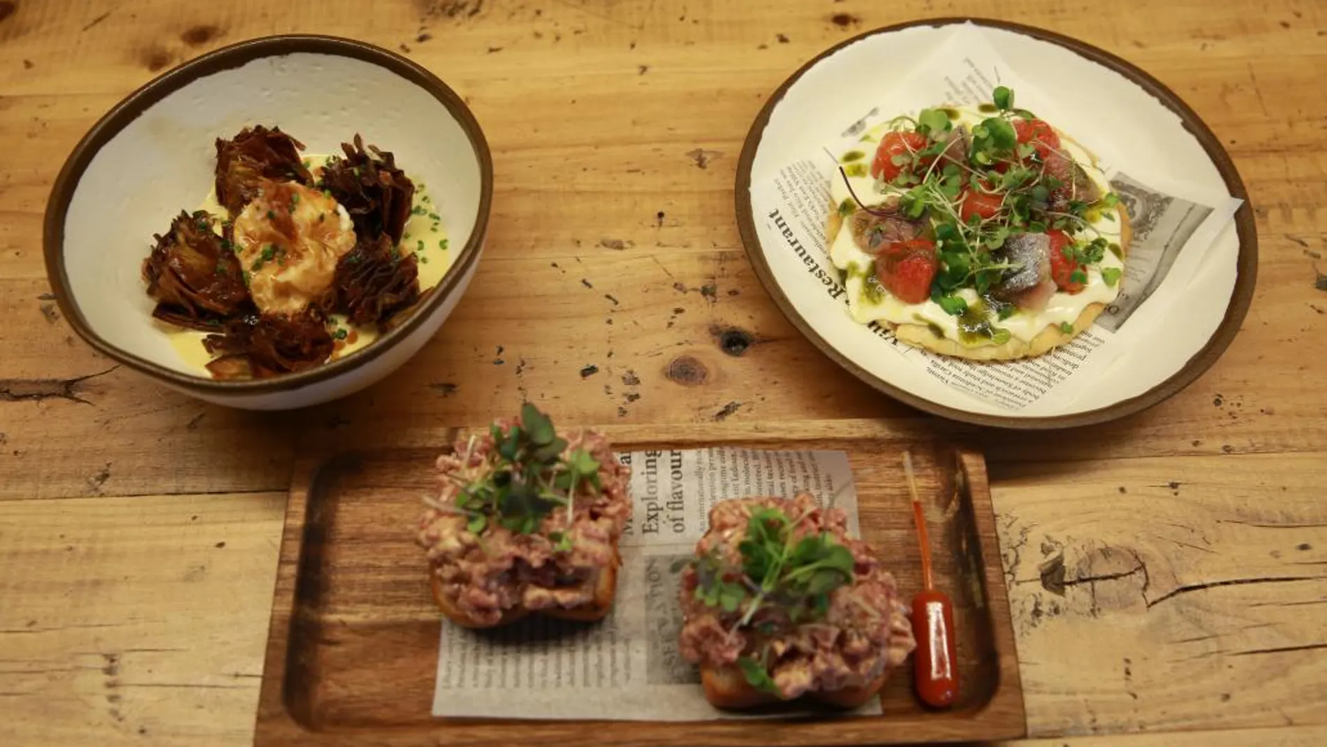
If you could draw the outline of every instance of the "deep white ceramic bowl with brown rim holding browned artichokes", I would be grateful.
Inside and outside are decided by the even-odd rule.
[[[305,153],[340,153],[356,133],[390,150],[429,184],[458,255],[372,345],[307,372],[215,381],[186,364],[154,324],[141,265],[153,234],[207,195],[215,139],[257,123],[280,126]],[[479,123],[434,74],[360,41],[256,38],[162,74],[93,126],[46,207],[46,275],[74,330],[121,364],[218,405],[303,407],[374,383],[433,337],[479,264],[491,199],[492,161]]]

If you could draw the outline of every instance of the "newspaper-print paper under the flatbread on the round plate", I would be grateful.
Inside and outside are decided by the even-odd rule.
[[[890,80],[902,82],[890,90],[888,100],[921,102],[918,109],[978,105],[990,100],[997,85],[1005,85],[1014,89],[1019,106],[1036,111],[1052,123],[1062,121],[1055,111],[1056,100],[1010,72],[999,53],[973,25],[957,27],[949,40],[914,70],[894,72]],[[876,106],[861,119],[844,122],[837,138],[821,143],[820,149],[808,149],[780,169],[775,178],[751,186],[756,220],[764,220],[775,234],[782,235],[788,251],[796,252],[807,272],[824,285],[824,292],[844,306],[848,304],[847,289],[840,272],[829,261],[825,240],[829,180],[839,178],[837,154],[852,149],[868,127],[901,113]],[[1127,158],[1113,162],[1116,157],[1107,153],[1103,143],[1093,142],[1089,133],[1071,135],[1097,155],[1112,191],[1120,196],[1129,215],[1133,235],[1116,301],[1072,342],[1028,361],[991,365],[937,356],[898,342],[886,325],[872,322],[868,326],[880,340],[881,354],[901,356],[951,389],[1006,410],[1030,415],[1050,413],[1070,406],[1084,386],[1104,375],[1124,350],[1121,330],[1144,303],[1174,303],[1180,296],[1176,291],[1192,277],[1202,256],[1233,219],[1241,200],[1227,196],[1222,204],[1200,204],[1180,196],[1182,186],[1172,190],[1177,194],[1165,194],[1129,176],[1120,167]],[[1176,267],[1180,267],[1177,283],[1168,285],[1173,291],[1153,297]]]

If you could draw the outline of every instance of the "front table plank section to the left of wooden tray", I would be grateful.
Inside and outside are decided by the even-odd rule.
[[[284,504],[0,503],[3,742],[249,743]]]

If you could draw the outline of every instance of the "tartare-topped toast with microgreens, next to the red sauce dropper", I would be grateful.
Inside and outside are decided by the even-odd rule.
[[[695,555],[679,644],[715,707],[857,707],[916,647],[893,576],[809,494],[717,503]]]

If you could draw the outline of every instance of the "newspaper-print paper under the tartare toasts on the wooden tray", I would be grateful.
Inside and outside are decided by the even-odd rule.
[[[632,467],[633,517],[622,535],[617,600],[602,622],[543,616],[492,630],[443,624],[435,716],[701,720],[715,710],[678,651],[678,560],[694,557],[710,507],[729,498],[809,491],[848,515],[857,495],[841,451],[747,448],[618,454]],[[855,711],[880,713],[878,701]]]

